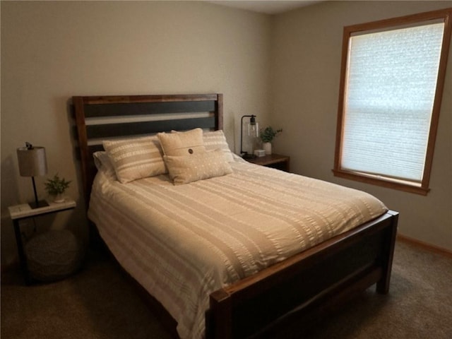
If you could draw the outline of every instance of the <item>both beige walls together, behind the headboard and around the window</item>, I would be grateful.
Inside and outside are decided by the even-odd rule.
[[[30,179],[18,175],[16,148],[25,141],[46,147],[49,175],[72,179],[78,201],[73,213],[38,218],[38,228],[87,235],[72,95],[223,93],[232,148],[239,118],[256,114],[283,127],[275,150],[292,157],[294,172],[369,191],[400,211],[401,233],[452,249],[452,58],[428,196],[331,174],[343,26],[447,6],[331,1],[270,17],[193,1],[1,1],[2,265],[16,258],[6,208],[32,199]]]

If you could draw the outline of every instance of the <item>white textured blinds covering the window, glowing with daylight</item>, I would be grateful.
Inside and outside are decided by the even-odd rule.
[[[422,182],[444,22],[350,37],[340,167]]]

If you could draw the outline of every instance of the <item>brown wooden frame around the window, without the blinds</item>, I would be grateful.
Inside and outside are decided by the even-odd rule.
[[[418,13],[410,16],[402,16],[385,20],[373,21],[371,23],[361,23],[357,25],[345,26],[343,29],[342,61],[340,69],[340,88],[338,103],[338,120],[336,125],[335,160],[333,174],[335,177],[351,179],[367,184],[375,184],[391,189],[408,191],[410,193],[427,195],[429,192],[430,174],[434,155],[434,145],[436,141],[436,131],[438,129],[439,112],[441,110],[441,100],[443,97],[444,80],[446,78],[446,66],[448,59],[449,45],[451,42],[451,18],[452,8],[445,8],[439,11]],[[424,162],[424,172],[420,185],[408,181],[384,177],[383,175],[364,174],[341,168],[343,133],[345,126],[345,100],[347,88],[347,63],[350,37],[353,33],[370,30],[395,29],[404,25],[425,23],[429,20],[444,20],[444,35],[441,44],[441,57],[439,61],[438,79],[432,109],[432,119],[430,121],[429,138],[427,143],[427,153]]]

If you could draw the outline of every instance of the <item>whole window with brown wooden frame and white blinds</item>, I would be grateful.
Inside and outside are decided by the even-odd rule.
[[[451,13],[344,28],[335,176],[427,194]]]

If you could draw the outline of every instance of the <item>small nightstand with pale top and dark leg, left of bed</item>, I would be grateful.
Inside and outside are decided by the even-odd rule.
[[[50,201],[47,201],[47,203],[49,203],[49,206],[40,208],[31,208],[28,203],[8,207],[9,215],[11,216],[11,220],[13,220],[14,234],[16,234],[20,268],[23,272],[26,285],[30,285],[31,281],[30,275],[28,273],[27,257],[25,256],[25,251],[23,249],[22,234],[20,234],[20,220],[35,218],[40,215],[58,213],[63,210],[72,210],[73,208],[76,208],[76,202],[71,199],[66,199],[62,203],[54,203]]]

